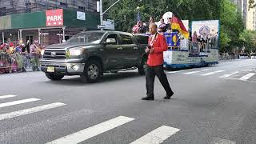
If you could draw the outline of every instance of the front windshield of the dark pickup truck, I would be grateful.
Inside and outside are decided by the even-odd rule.
[[[72,38],[66,42],[75,43],[95,43],[98,44],[103,36],[102,32],[84,32],[74,35]]]

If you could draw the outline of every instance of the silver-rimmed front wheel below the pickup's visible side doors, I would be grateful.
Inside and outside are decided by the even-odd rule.
[[[85,69],[81,75],[82,81],[84,82],[98,82],[99,77],[101,76],[102,66],[97,60],[89,60],[86,62]]]

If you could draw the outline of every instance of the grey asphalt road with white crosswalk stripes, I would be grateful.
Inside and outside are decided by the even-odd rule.
[[[166,71],[174,97],[130,70],[94,84],[42,72],[0,75],[0,143],[256,143],[256,60]]]

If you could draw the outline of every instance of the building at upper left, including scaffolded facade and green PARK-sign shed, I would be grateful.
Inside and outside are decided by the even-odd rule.
[[[94,0],[0,0],[0,43],[40,44],[65,42],[83,30],[96,30],[100,23]]]

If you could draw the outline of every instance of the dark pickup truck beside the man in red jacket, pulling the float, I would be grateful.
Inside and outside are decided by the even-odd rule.
[[[53,81],[64,75],[80,75],[97,82],[106,72],[137,69],[144,74],[147,36],[119,31],[86,31],[65,43],[46,47],[40,67]]]

